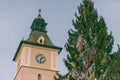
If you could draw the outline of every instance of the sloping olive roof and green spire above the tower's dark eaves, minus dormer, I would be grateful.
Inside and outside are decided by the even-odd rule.
[[[38,40],[42,36],[44,38],[43,45],[55,46],[47,35],[47,31],[46,31],[47,23],[45,23],[45,20],[41,17],[40,12],[41,12],[41,9],[39,9],[39,14],[34,19],[31,25],[32,31],[27,41],[32,43],[39,43]]]

